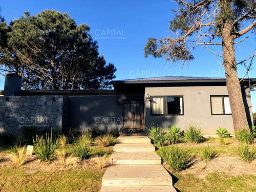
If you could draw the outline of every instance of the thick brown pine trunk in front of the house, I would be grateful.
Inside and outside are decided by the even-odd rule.
[[[223,65],[225,68],[228,97],[232,112],[234,131],[249,130],[242,97],[241,84],[237,73],[234,55],[234,38],[231,35],[231,23],[226,22],[222,30]]]

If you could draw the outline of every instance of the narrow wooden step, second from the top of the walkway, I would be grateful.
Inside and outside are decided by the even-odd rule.
[[[155,146],[151,143],[117,143],[114,152],[154,152]]]

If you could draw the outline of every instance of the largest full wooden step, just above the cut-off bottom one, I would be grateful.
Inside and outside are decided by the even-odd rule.
[[[162,165],[113,165],[106,169],[102,186],[172,186]]]

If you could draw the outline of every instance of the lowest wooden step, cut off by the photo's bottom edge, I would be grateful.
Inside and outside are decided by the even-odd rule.
[[[100,192],[176,192],[173,186],[102,186]]]

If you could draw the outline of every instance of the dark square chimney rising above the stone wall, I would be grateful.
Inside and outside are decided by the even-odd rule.
[[[22,90],[22,76],[16,73],[7,73],[5,75],[4,96],[20,95]]]

